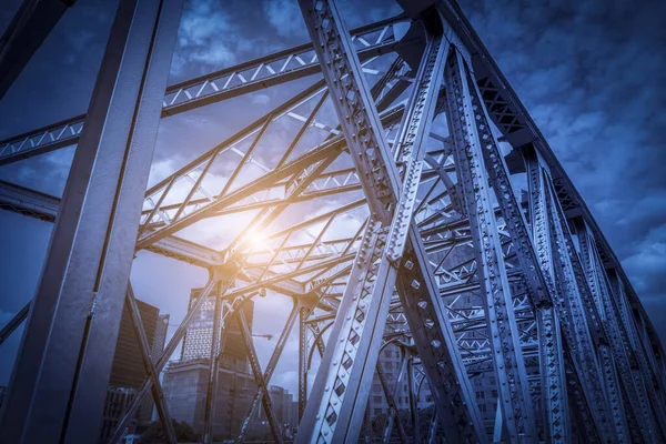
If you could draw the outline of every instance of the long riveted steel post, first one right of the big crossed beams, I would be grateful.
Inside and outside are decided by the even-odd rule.
[[[446,64],[445,84],[450,133],[454,139],[456,171],[465,195],[482,293],[485,294],[484,309],[491,330],[504,424],[511,442],[532,442],[537,438],[537,432],[527,373],[484,168],[482,142],[474,120],[471,89],[463,58],[457,51]]]

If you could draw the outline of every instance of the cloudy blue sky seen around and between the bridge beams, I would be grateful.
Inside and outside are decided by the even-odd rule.
[[[0,12],[0,30],[18,7]],[[13,4],[12,4],[13,3]],[[190,0],[170,82],[200,75],[306,40],[295,0]],[[400,12],[391,0],[341,1],[347,27]],[[666,326],[666,3],[660,1],[461,0],[620,259],[662,337]],[[0,139],[85,111],[117,2],[78,0],[0,102]],[[312,82],[301,81],[292,88]],[[289,88],[163,120],[153,176],[206,151],[290,95]],[[239,112],[239,110],[242,110]],[[56,195],[73,148],[0,168],[0,179]],[[50,225],[0,211],[0,325],[31,299]],[[175,278],[176,276],[176,278]],[[140,299],[182,317],[195,268],[140,253],[132,282]],[[255,332],[284,320],[289,303],[265,301]],[[269,323],[269,317],[271,322]],[[263,329],[263,330],[262,330]],[[275,333],[271,331],[271,333]],[[9,379],[14,334],[0,349],[0,385]],[[261,342],[262,340],[258,340]],[[259,344],[268,360],[270,344]],[[290,341],[273,383],[295,389]],[[289,362],[291,361],[291,362]]]

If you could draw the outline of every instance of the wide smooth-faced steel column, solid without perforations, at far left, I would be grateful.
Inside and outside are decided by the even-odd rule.
[[[181,7],[120,3],[0,420],[7,442],[99,434]]]

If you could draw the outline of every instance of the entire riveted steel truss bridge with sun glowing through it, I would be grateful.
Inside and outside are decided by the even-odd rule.
[[[0,42],[0,94],[68,3],[23,2]],[[347,30],[333,0],[299,3],[311,43],[169,85],[182,0],[122,0],[87,114],[0,142],[3,165],[78,145],[62,199],[0,183],[0,208],[54,223],[34,299],[0,334],[27,323],[1,441],[99,436],[127,304],[145,380],[110,443],[147,396],[175,443],[159,375],[212,296],[224,312],[212,343],[239,323],[259,386],[239,442],[260,407],[284,442],[268,384],[296,324],[296,443],[365,436],[370,386],[390,343],[403,350],[411,392],[420,381],[432,390],[428,442],[665,442],[655,330],[460,7],[404,0],[403,14]],[[304,78],[313,82],[296,91]],[[294,94],[147,190],[161,119],[269,87]],[[221,250],[183,234],[238,214],[251,222]],[[210,272],[160,356],[129,282],[139,250]],[[266,290],[291,297],[293,310],[262,369],[239,307]],[[219,347],[210,357],[205,443]],[[497,389],[494,433],[474,395],[482,367]],[[383,390],[387,427],[420,442]],[[414,393],[410,405],[414,430]]]

